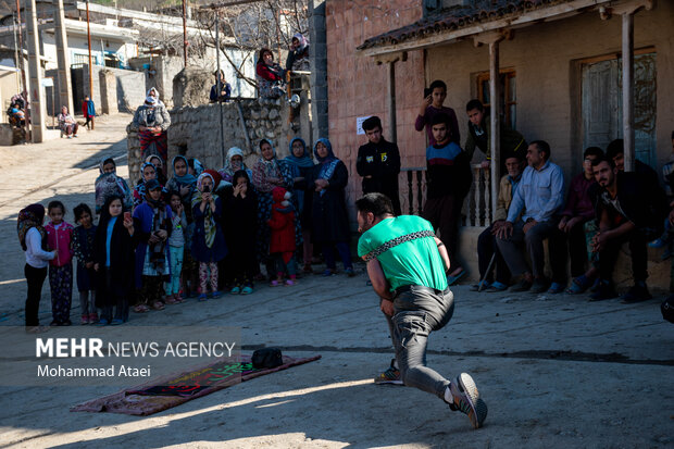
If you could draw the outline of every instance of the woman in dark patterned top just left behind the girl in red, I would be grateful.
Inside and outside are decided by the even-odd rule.
[[[271,232],[267,225],[272,217],[272,190],[274,187],[283,187],[286,190],[292,188],[292,176],[284,170],[276,159],[276,150],[272,142],[266,139],[260,140],[261,158],[255,162],[252,170],[252,183],[258,192],[258,261],[267,266],[267,276],[275,273],[270,259]],[[270,278],[271,280],[271,278]]]

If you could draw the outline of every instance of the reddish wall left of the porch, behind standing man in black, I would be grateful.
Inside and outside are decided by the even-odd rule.
[[[421,0],[377,0],[363,5],[351,1],[326,1],[329,138],[335,154],[349,170],[347,196],[350,205],[362,194],[362,179],[355,172],[355,158],[358,148],[367,141],[364,135],[357,134],[357,119],[378,115],[384,126],[384,136],[390,136],[386,109],[387,67],[376,65],[372,58],[355,57],[355,47],[369,37],[419,20],[422,14],[421,3]],[[407,62],[397,63],[396,89],[398,147],[402,166],[425,165],[425,135],[414,130],[424,91],[421,52],[412,52]],[[407,180],[401,182],[400,187],[401,200],[404,200]],[[349,209],[354,226],[354,209]],[[404,204],[403,209],[407,209]]]

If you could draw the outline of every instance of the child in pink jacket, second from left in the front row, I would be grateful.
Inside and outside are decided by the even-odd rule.
[[[49,287],[51,288],[52,326],[70,326],[73,300],[73,226],[63,220],[65,207],[51,201],[47,207],[51,220],[45,229],[49,248],[57,257],[49,262]]]

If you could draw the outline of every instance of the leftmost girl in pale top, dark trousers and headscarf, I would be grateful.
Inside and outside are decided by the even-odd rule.
[[[39,334],[49,329],[40,326],[38,311],[42,296],[42,285],[47,278],[49,261],[57,257],[57,251],[50,251],[47,245],[47,230],[42,227],[45,221],[45,207],[30,204],[18,212],[16,232],[18,242],[26,253],[24,274],[28,284],[26,298],[26,332]]]

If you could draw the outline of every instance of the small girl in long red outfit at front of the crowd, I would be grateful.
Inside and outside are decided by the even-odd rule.
[[[270,255],[276,261],[276,279],[272,287],[284,285],[284,273],[289,279],[286,285],[297,284],[297,262],[295,261],[295,208],[288,201],[291,195],[283,187],[272,190],[272,219],[267,222],[272,229],[270,240]]]

